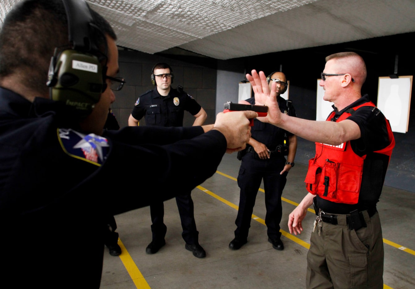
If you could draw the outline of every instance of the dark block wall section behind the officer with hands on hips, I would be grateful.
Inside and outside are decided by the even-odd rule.
[[[184,91],[193,96],[195,100],[206,110],[207,120],[205,124],[215,120],[216,97],[216,67],[206,66],[203,61],[186,61],[173,57],[146,54],[139,51],[119,50],[120,76],[127,83],[121,91],[115,92],[115,103],[112,110],[117,117],[120,127],[128,125],[128,117],[134,108],[137,98],[155,88],[151,84],[151,69],[157,62],[166,62],[173,69],[173,88],[183,86]],[[188,57],[189,60],[193,60]],[[215,64],[215,63],[213,63]],[[193,115],[185,113],[183,125],[191,126]],[[140,125],[145,125],[144,118]]]

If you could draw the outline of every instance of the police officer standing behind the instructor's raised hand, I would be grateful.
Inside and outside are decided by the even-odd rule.
[[[280,94],[287,89],[286,76],[275,71],[267,77],[276,82],[277,100],[281,112],[295,116],[295,110],[290,101],[283,99]],[[255,104],[254,98],[246,100]],[[268,241],[276,250],[283,250],[281,241],[280,221],[282,217],[281,194],[286,184],[288,171],[294,166],[294,157],[297,150],[297,137],[290,132],[274,125],[254,120],[251,129],[251,138],[242,155],[242,164],[239,169],[238,185],[241,189],[238,216],[235,221],[237,229],[235,238],[229,243],[229,248],[238,250],[247,243],[251,215],[255,205],[256,193],[261,180],[264,179],[266,217]],[[287,159],[285,159],[285,155]]]

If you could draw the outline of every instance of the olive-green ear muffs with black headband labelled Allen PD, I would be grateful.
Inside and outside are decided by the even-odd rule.
[[[85,118],[107,88],[106,55],[99,51],[91,37],[93,33],[105,35],[94,24],[90,8],[84,0],[62,1],[72,47],[63,51],[55,49],[46,85],[50,87],[51,99],[64,102],[74,108],[75,116]]]

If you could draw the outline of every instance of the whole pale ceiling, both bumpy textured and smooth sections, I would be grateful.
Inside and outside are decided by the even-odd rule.
[[[2,19],[18,0],[0,1]],[[231,59],[415,32],[415,0],[87,1],[118,45],[150,54],[179,47]]]

